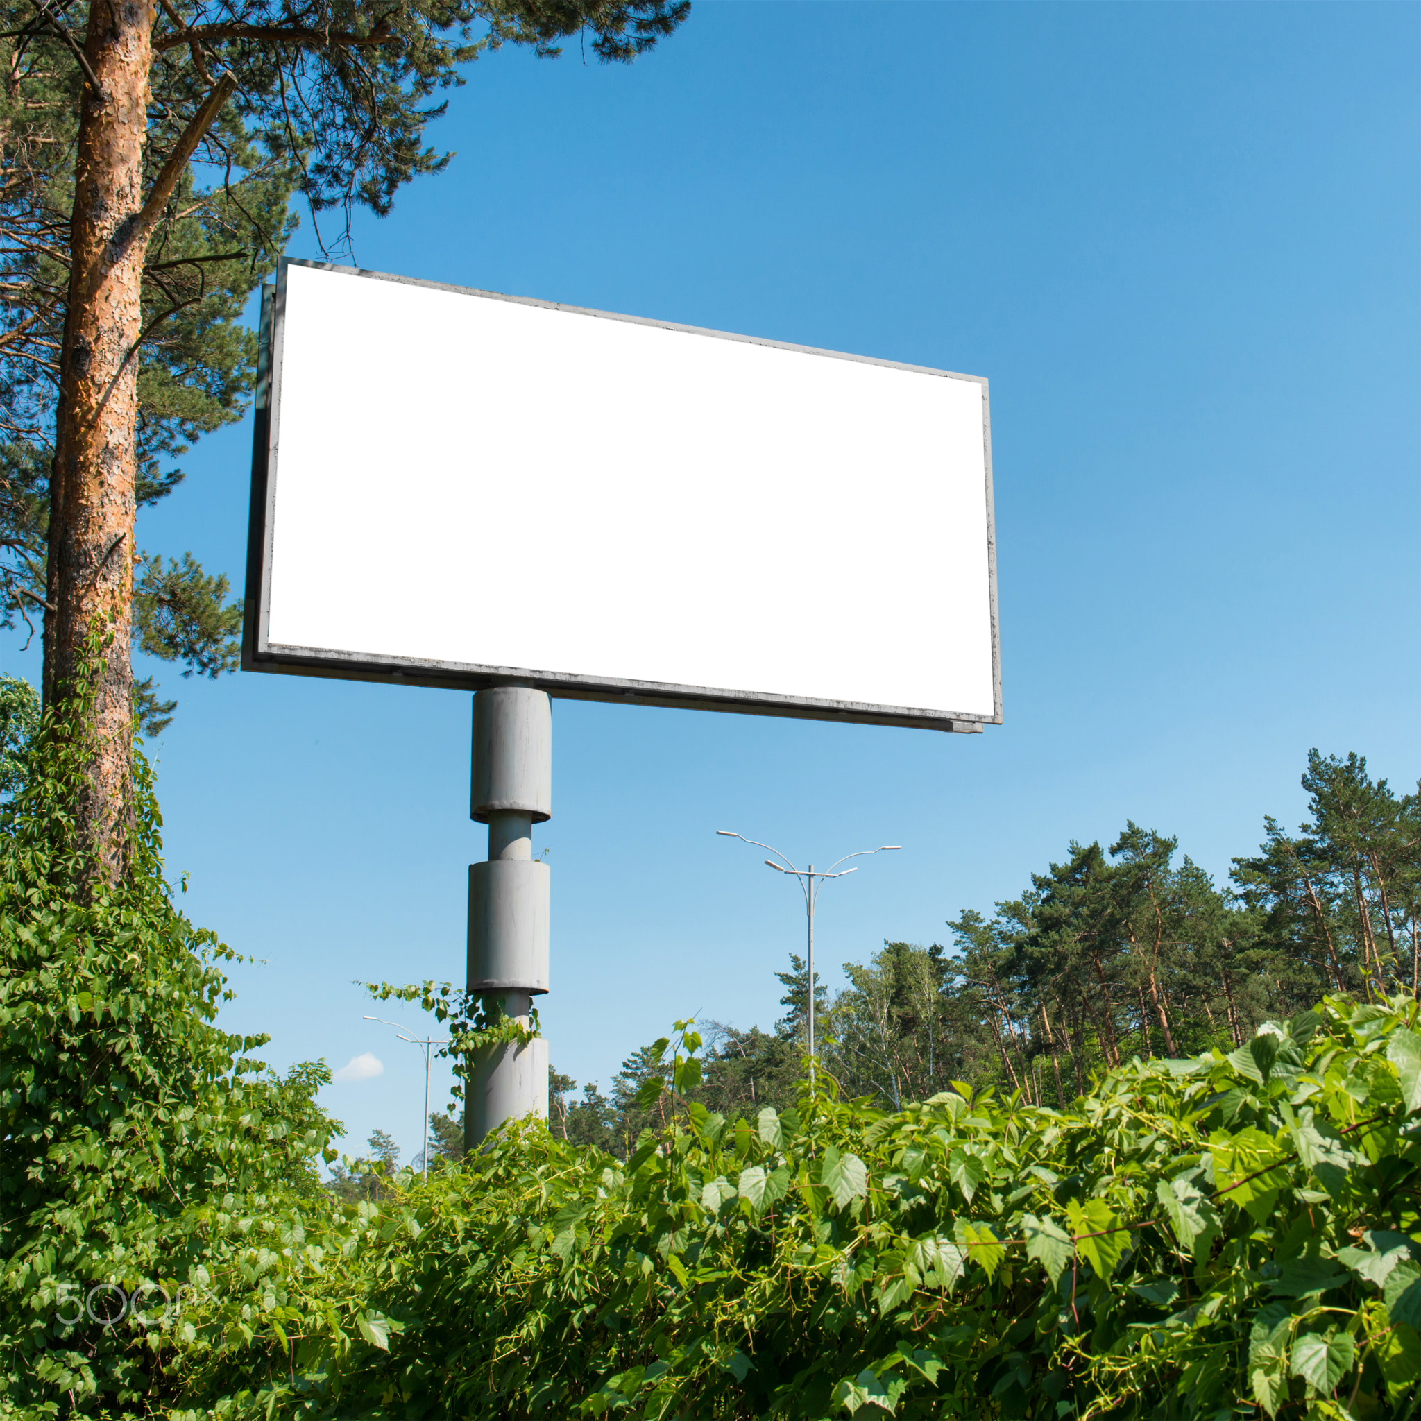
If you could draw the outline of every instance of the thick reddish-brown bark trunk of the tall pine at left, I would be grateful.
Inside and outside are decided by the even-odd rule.
[[[134,480],[146,240],[144,139],[153,10],[148,0],[90,7],[84,53],[102,85],[80,112],[68,318],[50,483],[44,701],[75,692],[85,647],[101,637],[84,730],[78,827],[99,877],[124,871],[131,816]]]

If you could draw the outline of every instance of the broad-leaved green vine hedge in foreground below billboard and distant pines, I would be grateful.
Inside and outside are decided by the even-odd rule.
[[[513,1124],[402,1175],[323,1275],[274,1258],[269,1286],[308,1292],[254,1329],[230,1414],[1410,1415],[1417,1026],[1330,998],[1067,1110],[801,1087],[752,1125],[675,1088],[682,1023],[666,1125],[625,1162]]]

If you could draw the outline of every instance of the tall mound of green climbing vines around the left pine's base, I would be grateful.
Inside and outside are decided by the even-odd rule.
[[[324,1064],[274,1076],[264,1037],[216,1026],[232,953],[172,902],[141,756],[131,872],[87,871],[65,729],[45,720],[0,827],[0,1411],[138,1417],[210,1346],[213,1280],[250,1309],[256,1260],[330,1215],[340,1127]]]

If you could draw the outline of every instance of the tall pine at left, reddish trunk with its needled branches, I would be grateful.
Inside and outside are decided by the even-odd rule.
[[[503,44],[590,34],[645,53],[689,0],[0,0],[0,594],[43,614],[44,702],[78,695],[91,632],[87,791],[95,871],[128,863],[131,645],[216,675],[240,610],[190,557],[146,557],[136,509],[192,441],[240,416],[256,342],[237,325],[298,193],[340,250],[357,206],[449,161],[425,142],[441,91]],[[196,163],[196,166],[195,166]],[[335,232],[321,219],[335,215]]]

